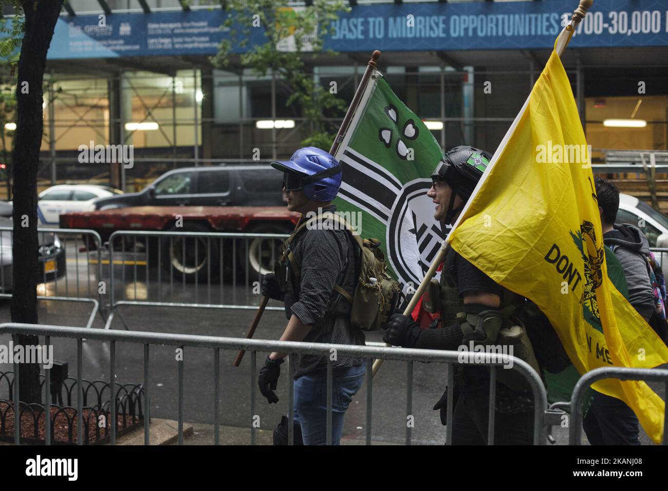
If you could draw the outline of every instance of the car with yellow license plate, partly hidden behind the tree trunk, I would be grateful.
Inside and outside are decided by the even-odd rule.
[[[0,217],[0,227],[13,227],[9,218]],[[9,293],[13,283],[13,234],[11,230],[0,230],[0,293]],[[65,248],[52,232],[39,232],[37,282],[47,283],[65,275]]]

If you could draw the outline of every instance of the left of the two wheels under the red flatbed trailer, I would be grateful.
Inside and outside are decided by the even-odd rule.
[[[182,227],[172,226],[169,232],[211,232],[211,229],[198,223],[185,223]],[[206,283],[208,281],[208,270],[211,278],[217,277],[218,273],[218,240],[205,237],[163,237],[162,264],[166,271],[173,271],[174,281],[183,281],[185,277],[188,283]],[[171,273],[170,273],[171,274]]]

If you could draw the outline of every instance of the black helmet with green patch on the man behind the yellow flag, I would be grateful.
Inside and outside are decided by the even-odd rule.
[[[452,148],[446,154],[446,158],[438,162],[432,174],[432,180],[445,181],[454,191],[450,196],[446,224],[452,221],[452,216],[458,211],[452,209],[455,194],[459,194],[466,203],[490,164],[490,160],[492,160],[492,154],[489,152],[468,145],[460,145]]]

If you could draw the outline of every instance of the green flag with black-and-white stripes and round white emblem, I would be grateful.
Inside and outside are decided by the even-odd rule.
[[[446,237],[427,197],[443,152],[379,71],[373,71],[334,156],[343,167],[339,212],[361,212],[357,231],[381,240],[391,271],[416,288]]]

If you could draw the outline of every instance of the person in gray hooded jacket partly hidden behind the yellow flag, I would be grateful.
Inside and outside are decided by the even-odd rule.
[[[603,178],[596,178],[595,186],[603,243],[613,250],[624,269],[629,285],[629,303],[645,321],[649,321],[655,309],[654,292],[645,259],[645,255],[649,254],[649,242],[637,226],[615,224],[619,209],[619,188]],[[592,445],[640,445],[638,418],[626,403],[609,395],[596,393],[582,428]]]

